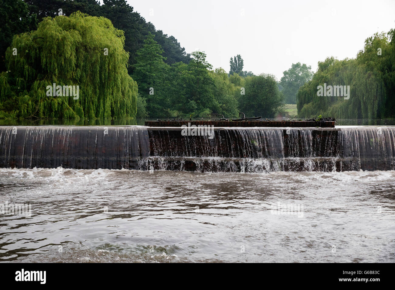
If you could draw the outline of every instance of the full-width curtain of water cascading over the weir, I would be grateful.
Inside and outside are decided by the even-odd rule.
[[[198,172],[394,170],[395,127],[0,127],[0,167]]]

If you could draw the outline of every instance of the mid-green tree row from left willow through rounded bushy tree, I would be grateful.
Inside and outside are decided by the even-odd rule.
[[[243,59],[239,56],[242,72]],[[217,113],[237,118],[273,117],[281,109],[282,94],[273,75],[247,75],[222,68],[213,70],[205,52],[192,52],[188,64],[166,64],[163,49],[149,34],[137,51],[133,79],[139,86],[137,116],[141,118],[203,118]]]

